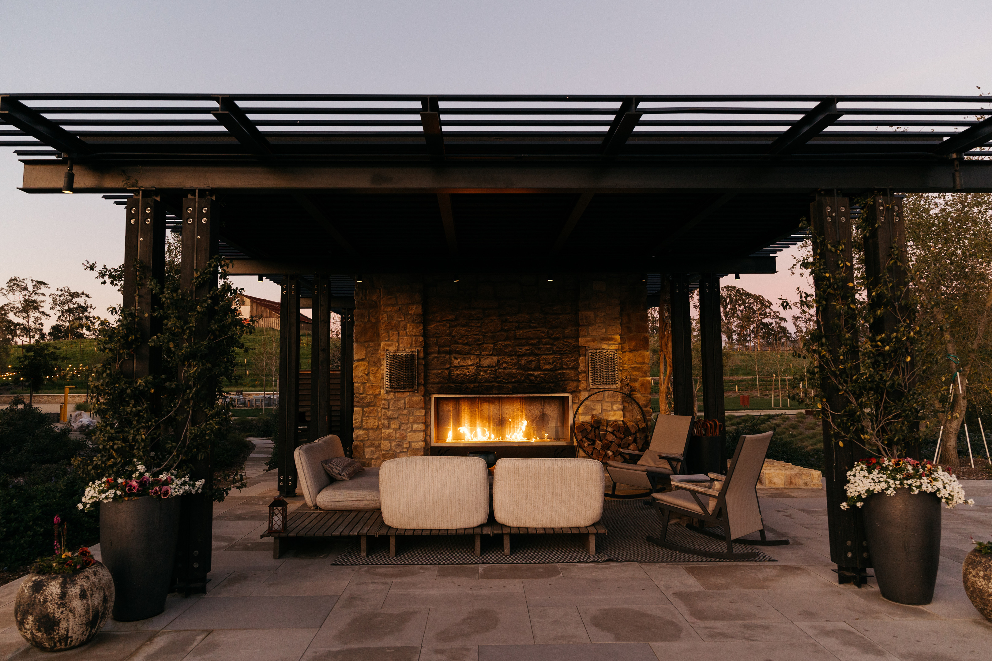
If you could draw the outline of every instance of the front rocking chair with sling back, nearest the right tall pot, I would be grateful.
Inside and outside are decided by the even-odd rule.
[[[662,521],[661,537],[648,537],[648,541],[673,551],[720,558],[724,560],[750,560],[757,552],[735,553],[733,542],[755,545],[788,544],[788,539],[767,539],[765,524],[758,504],[758,478],[761,476],[772,432],[742,436],[734,451],[733,461],[726,477],[716,473],[685,475],[671,478],[673,491],[654,494],[655,511]],[[702,482],[706,481],[706,482]],[[705,529],[705,526],[686,525],[694,532],[723,539],[726,552],[693,549],[667,540],[669,518],[687,516],[710,526],[722,526],[723,535]],[[761,539],[741,539],[752,532],[760,532]]]

